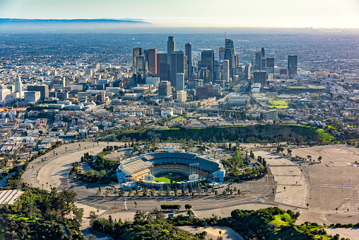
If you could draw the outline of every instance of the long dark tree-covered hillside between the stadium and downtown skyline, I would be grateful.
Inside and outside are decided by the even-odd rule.
[[[334,137],[317,127],[305,125],[252,125],[245,127],[207,127],[207,128],[173,128],[160,130],[145,130],[117,135],[119,141],[124,139],[151,140],[158,138],[167,140],[188,140],[217,142],[222,140],[240,142],[295,142],[301,136],[304,140],[320,137],[321,143],[331,142]]]

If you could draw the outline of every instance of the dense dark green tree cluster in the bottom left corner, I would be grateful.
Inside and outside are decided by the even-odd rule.
[[[19,239],[85,239],[80,234],[83,209],[74,205],[76,193],[56,188],[51,192],[26,188],[18,202],[1,205],[6,219],[6,236]],[[14,215],[23,217],[14,218]],[[71,216],[71,217],[69,217]],[[65,225],[69,236],[59,223]]]

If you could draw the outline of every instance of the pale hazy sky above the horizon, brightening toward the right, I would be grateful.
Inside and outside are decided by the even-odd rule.
[[[0,0],[0,18],[142,18],[166,27],[359,28],[359,0]]]

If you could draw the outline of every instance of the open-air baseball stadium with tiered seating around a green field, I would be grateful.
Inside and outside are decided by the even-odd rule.
[[[142,181],[146,184],[188,183],[201,180],[223,181],[225,169],[220,160],[182,149],[160,149],[134,156],[117,168],[119,183]]]

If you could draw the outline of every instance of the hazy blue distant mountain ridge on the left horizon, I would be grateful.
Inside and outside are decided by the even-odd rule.
[[[0,23],[148,23],[139,18],[95,18],[95,19],[24,19],[0,18]]]

